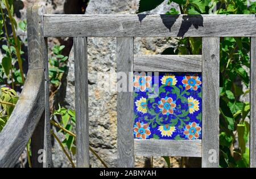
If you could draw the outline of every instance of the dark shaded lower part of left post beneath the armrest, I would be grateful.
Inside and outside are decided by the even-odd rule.
[[[31,164],[33,168],[43,168],[43,161],[41,161],[41,159],[43,159],[41,155],[43,154],[41,150],[44,149],[44,118],[45,114],[43,112],[31,137]],[[40,161],[38,159],[40,159]]]

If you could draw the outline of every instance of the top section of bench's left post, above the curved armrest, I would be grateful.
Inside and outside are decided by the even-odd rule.
[[[27,8],[28,68],[44,69],[47,45],[43,33],[43,14],[46,7],[33,5]]]

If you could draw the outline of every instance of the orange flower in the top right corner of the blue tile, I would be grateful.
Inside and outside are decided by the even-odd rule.
[[[185,75],[183,77],[182,83],[186,90],[190,89],[190,90],[194,90],[194,91],[196,91],[198,88],[200,88],[200,84],[202,84],[198,74],[195,74],[193,76]]]

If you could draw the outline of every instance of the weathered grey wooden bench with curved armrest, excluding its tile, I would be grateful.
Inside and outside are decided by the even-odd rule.
[[[227,36],[251,37],[250,167],[256,167],[255,15],[51,15],[34,5],[27,9],[27,24],[29,70],[19,101],[0,133],[0,167],[13,167],[30,138],[33,167],[52,167],[47,37],[74,38],[77,167],[89,167],[87,37],[117,38],[118,72],[184,71],[203,76],[201,140],[134,139],[133,93],[118,92],[117,167],[134,167],[134,155],[201,157],[202,167],[218,167],[219,43]],[[203,52],[184,58],[137,57],[134,37],[203,37]],[[45,161],[39,163],[42,148]]]

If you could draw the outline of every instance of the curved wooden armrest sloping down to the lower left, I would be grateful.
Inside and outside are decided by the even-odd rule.
[[[44,70],[30,69],[19,100],[0,133],[0,167],[14,167],[44,111]]]

